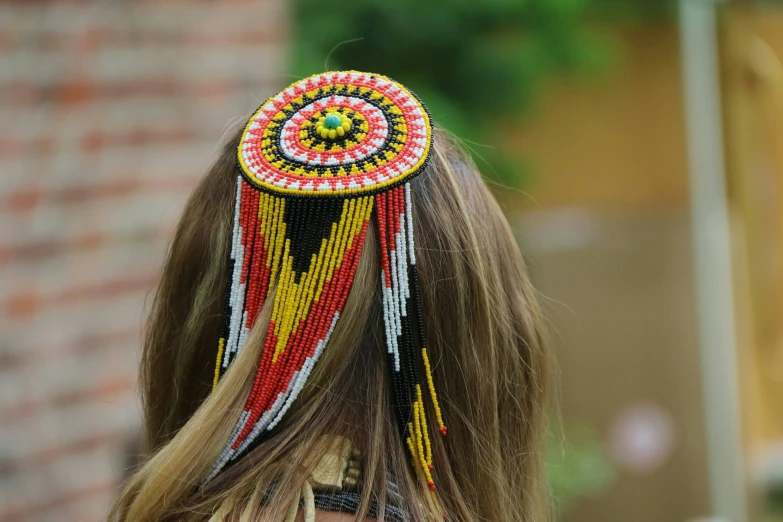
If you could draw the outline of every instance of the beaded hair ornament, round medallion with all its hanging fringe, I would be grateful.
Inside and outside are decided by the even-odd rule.
[[[328,349],[375,215],[395,413],[414,464],[435,489],[424,386],[441,435],[446,426],[424,339],[409,184],[431,150],[424,104],[378,74],[311,76],[267,100],[247,122],[237,147],[214,386],[264,301],[274,301],[253,388],[207,480],[274,429],[296,400]]]

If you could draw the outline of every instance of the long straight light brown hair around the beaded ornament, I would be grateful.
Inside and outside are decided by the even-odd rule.
[[[141,364],[147,457],[110,520],[204,521],[217,510],[224,520],[282,520],[326,451],[324,435],[346,437],[362,453],[357,520],[373,495],[384,502],[390,476],[412,520],[441,520],[390,408],[372,231],[341,320],[296,407],[250,454],[200,487],[245,404],[272,302],[210,393],[238,139],[191,196],[171,243]],[[480,174],[443,132],[411,187],[424,325],[449,424],[448,437],[432,438],[438,502],[454,521],[543,520],[547,357],[522,256]]]

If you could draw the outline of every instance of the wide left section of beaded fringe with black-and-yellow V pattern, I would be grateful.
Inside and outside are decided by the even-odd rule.
[[[276,292],[253,388],[207,481],[274,429],[299,395],[348,297],[373,209],[371,196],[287,200],[258,192],[241,178],[238,195],[229,320],[218,343],[215,384],[275,283]]]

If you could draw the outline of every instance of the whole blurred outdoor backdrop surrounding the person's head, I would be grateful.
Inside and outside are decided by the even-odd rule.
[[[103,518],[189,191],[347,68],[426,100],[518,235],[557,520],[783,520],[782,60],[771,1],[0,1],[0,522]]]

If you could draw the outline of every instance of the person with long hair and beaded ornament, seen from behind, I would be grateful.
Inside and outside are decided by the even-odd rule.
[[[141,365],[149,456],[110,519],[543,520],[546,374],[468,157],[400,84],[317,75],[185,208]]]

